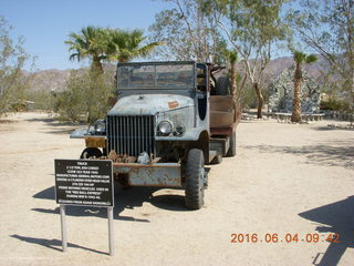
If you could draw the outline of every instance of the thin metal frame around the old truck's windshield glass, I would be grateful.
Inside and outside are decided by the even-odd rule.
[[[119,86],[119,68],[122,66],[158,66],[158,65],[192,65],[192,84],[186,84],[183,86]],[[196,62],[195,61],[159,61],[159,62],[128,62],[117,63],[116,69],[116,89],[117,90],[190,90],[196,89]],[[156,73],[156,69],[155,69]],[[156,84],[156,82],[155,82]]]

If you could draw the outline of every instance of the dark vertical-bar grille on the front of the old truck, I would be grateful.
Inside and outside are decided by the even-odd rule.
[[[155,120],[153,115],[107,116],[107,149],[117,154],[138,156],[155,152]]]

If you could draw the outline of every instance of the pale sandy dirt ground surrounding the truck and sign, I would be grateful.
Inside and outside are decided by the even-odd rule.
[[[69,207],[61,253],[53,160],[76,158],[83,141],[45,114],[4,120],[0,265],[353,265],[353,131],[241,123],[238,155],[211,166],[202,209],[187,211],[183,191],[116,190],[110,257],[106,212],[87,207]]]

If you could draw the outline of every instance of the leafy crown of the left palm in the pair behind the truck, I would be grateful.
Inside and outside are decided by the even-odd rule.
[[[70,40],[65,41],[70,45],[69,51],[74,51],[70,60],[80,62],[82,59],[92,60],[92,70],[103,73],[102,61],[106,60],[106,49],[108,44],[107,33],[104,29],[88,25],[82,28],[80,33],[70,33]]]

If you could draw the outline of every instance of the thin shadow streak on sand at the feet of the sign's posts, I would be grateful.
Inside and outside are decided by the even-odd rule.
[[[21,235],[10,235],[11,237],[22,241],[22,242],[27,242],[30,244],[34,244],[34,245],[40,245],[40,246],[44,246],[48,248],[52,248],[54,250],[61,252],[62,250],[62,241],[59,239],[45,239],[45,238],[35,238],[35,237],[28,237],[28,236],[21,236]],[[93,252],[93,253],[98,253],[98,254],[104,254],[104,255],[108,255],[108,253],[105,252],[100,252],[96,249],[92,249],[92,248],[87,248],[87,247],[83,247],[76,244],[72,244],[72,243],[67,243],[67,247],[74,247],[74,248],[82,248],[88,252]]]

